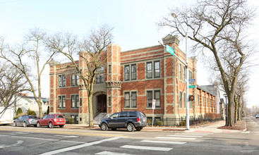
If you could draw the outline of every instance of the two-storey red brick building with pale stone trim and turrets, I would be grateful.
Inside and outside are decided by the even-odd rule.
[[[164,44],[171,46],[183,61],[186,56],[179,49],[178,37],[167,35]],[[121,51],[112,44],[103,52],[107,64],[98,71],[92,99],[93,116],[98,113],[138,110],[152,117],[152,99],[155,99],[155,118],[186,117],[186,69],[178,58],[164,46]],[[195,57],[188,60],[189,79],[196,79]],[[85,70],[83,60],[77,61]],[[83,82],[69,63],[50,65],[50,111],[74,117],[78,123],[88,123],[88,97]],[[191,85],[196,85],[193,82]],[[190,117],[198,118],[207,112],[216,112],[215,95],[200,87],[189,89],[195,101],[190,101]]]

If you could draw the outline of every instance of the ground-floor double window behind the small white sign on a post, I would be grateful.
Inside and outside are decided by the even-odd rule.
[[[155,107],[161,107],[160,90],[147,91],[147,108],[152,108],[152,99],[155,99]]]

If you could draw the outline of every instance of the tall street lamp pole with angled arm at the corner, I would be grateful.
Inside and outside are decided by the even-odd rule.
[[[173,16],[174,18],[176,18],[176,20],[178,21],[178,23],[180,24],[181,28],[183,29],[183,26],[181,25],[181,23],[179,22],[176,13],[171,13],[171,16]],[[188,56],[187,56],[187,38],[188,38],[188,34],[187,32],[183,29],[183,32],[186,34],[186,130],[190,130],[190,120],[189,120],[189,104],[188,104],[188,100],[189,100],[189,77],[188,77]]]

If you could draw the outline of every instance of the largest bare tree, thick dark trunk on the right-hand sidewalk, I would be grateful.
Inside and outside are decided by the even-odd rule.
[[[254,17],[254,10],[248,8],[246,0],[200,0],[190,8],[173,8],[179,23],[188,32],[188,38],[195,44],[193,52],[200,51],[212,56],[214,68],[218,70],[227,93],[229,109],[227,126],[234,126],[234,94],[241,66],[251,54],[246,40],[246,28]],[[170,13],[170,15],[171,15]],[[158,23],[160,27],[172,27],[172,34],[186,37],[178,21],[167,16]],[[231,73],[228,79],[227,73]]]

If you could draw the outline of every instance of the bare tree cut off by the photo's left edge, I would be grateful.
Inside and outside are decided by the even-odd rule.
[[[30,89],[26,87],[27,80],[20,70],[4,63],[0,63],[0,66],[0,105],[4,106],[3,111],[0,111],[1,118],[6,109],[14,104],[17,95]]]

